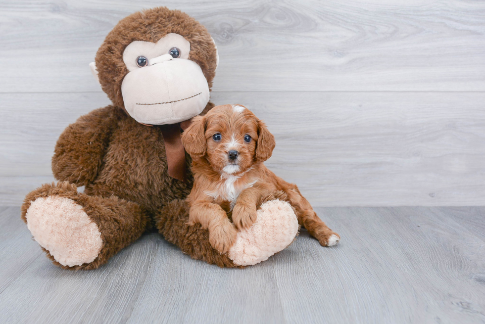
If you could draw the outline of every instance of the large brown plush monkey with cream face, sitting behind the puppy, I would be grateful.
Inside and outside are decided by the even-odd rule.
[[[220,267],[256,264],[291,243],[296,217],[276,196],[225,255],[206,230],[188,224],[183,199],[193,178],[180,133],[214,106],[217,61],[207,30],[165,7],[136,12],[108,34],[90,66],[113,104],[66,128],[52,157],[60,182],[30,192],[21,208],[54,264],[96,269],[155,227],[194,259]]]

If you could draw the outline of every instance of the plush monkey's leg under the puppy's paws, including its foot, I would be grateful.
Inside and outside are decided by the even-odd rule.
[[[189,206],[174,200],[155,216],[156,226],[165,239],[193,259],[219,267],[242,267],[267,260],[291,244],[298,232],[298,221],[290,204],[282,200],[265,201],[254,224],[239,231],[236,243],[220,254],[209,242],[209,232],[199,224],[189,225]]]

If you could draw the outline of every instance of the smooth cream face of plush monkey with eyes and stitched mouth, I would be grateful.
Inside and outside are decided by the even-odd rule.
[[[209,85],[189,53],[190,43],[174,33],[157,43],[135,41],[126,47],[123,61],[130,72],[121,93],[126,111],[136,121],[175,124],[202,112]]]

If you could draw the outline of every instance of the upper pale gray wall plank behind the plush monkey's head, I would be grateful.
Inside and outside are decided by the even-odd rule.
[[[0,3],[0,92],[100,91],[88,68],[119,19],[160,4],[213,35],[214,91],[485,91],[485,2]]]

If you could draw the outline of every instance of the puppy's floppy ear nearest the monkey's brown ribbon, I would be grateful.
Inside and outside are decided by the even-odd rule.
[[[205,140],[205,116],[197,116],[191,125],[182,133],[182,144],[192,157],[202,157],[207,150]]]

